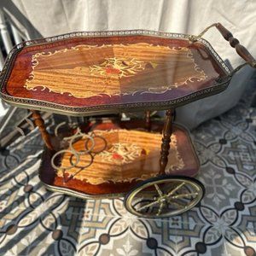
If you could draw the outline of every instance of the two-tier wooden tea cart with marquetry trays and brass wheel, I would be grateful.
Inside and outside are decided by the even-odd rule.
[[[169,217],[204,195],[188,131],[172,125],[174,109],[225,90],[252,55],[213,24],[246,61],[230,71],[201,36],[144,30],[75,32],[23,42],[1,73],[5,102],[32,110],[44,139],[39,170],[46,188],[82,198],[125,195],[140,217]],[[49,134],[39,111],[97,116],[143,111],[146,119],[87,119]],[[166,121],[150,111],[166,110]],[[171,148],[171,150],[169,150]],[[169,152],[170,151],[170,152]]]

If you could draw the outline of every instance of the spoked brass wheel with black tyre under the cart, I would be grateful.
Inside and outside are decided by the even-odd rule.
[[[171,217],[195,207],[204,191],[201,182],[192,177],[153,177],[125,196],[125,208],[143,218]]]

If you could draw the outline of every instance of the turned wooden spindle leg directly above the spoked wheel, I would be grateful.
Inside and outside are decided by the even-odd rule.
[[[163,138],[160,152],[160,174],[165,174],[172,136],[172,109],[166,111],[166,123],[163,128]]]

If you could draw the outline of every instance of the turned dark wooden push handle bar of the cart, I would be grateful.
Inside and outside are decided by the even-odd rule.
[[[232,33],[228,31],[223,25],[220,23],[216,23],[215,25],[218,31],[223,35],[223,37],[230,42],[231,47],[236,49],[238,55],[240,55],[247,63],[251,66],[256,68],[256,61],[253,56],[248,52],[248,50],[242,46],[238,39],[234,38]]]

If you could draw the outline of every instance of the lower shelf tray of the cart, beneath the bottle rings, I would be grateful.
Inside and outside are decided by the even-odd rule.
[[[83,198],[117,197],[137,183],[158,176],[163,124],[153,122],[150,132],[136,127],[141,126],[134,121],[94,125],[89,134],[95,146],[90,154],[80,154],[75,166],[70,163],[76,162],[78,155],[74,156],[71,148],[55,158],[58,168],[51,165],[56,151],[44,148],[41,181],[48,189]],[[81,152],[84,145],[90,148],[90,140],[80,137],[73,149]],[[174,125],[166,174],[194,177],[199,168],[188,132]]]

